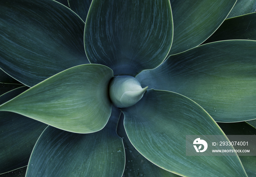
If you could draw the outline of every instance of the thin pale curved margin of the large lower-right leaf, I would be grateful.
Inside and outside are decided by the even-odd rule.
[[[157,89],[149,89],[149,90],[167,91],[167,90],[157,90]],[[171,93],[175,93],[175,94],[181,95],[181,94],[179,94],[179,93],[172,92],[172,91],[167,91],[167,92],[171,92]],[[196,103],[195,101],[193,101],[192,99],[190,99],[190,98],[188,98],[188,97],[186,97],[186,96],[184,96],[184,95],[181,95],[181,96],[182,96],[182,97],[185,97],[185,98],[187,98],[187,99],[189,99],[189,100],[191,100],[191,101],[194,102],[196,105],[198,105],[202,110],[204,110],[199,104],[197,104],[197,103]],[[136,104],[135,104],[134,106],[136,106]],[[122,111],[122,109],[120,109],[120,110]],[[211,117],[210,114],[209,114],[208,112],[206,112],[206,110],[204,110],[204,111],[205,111],[206,114],[208,114],[209,117]],[[122,113],[123,113],[123,112],[122,112]],[[123,114],[124,114],[124,113],[123,113]],[[125,119],[125,115],[124,115],[124,119]],[[211,117],[211,120],[215,123],[215,125],[217,125],[217,127],[218,127],[219,130],[223,133],[223,135],[226,136],[226,134],[223,132],[223,130],[219,127],[219,125],[216,123],[216,121],[215,121],[212,117]],[[124,125],[124,129],[125,129],[125,131],[126,131],[125,125]],[[128,139],[129,139],[129,141],[131,142],[132,146],[133,146],[143,157],[145,157],[145,156],[140,152],[140,150],[138,150],[138,149],[134,146],[134,144],[132,143],[132,141],[130,140],[130,138],[129,138],[128,135],[127,135],[127,137],[128,137]],[[226,138],[227,138],[227,136],[226,136]],[[227,139],[228,139],[228,138],[227,138]],[[232,147],[233,147],[233,146],[232,146]],[[234,149],[234,147],[233,147],[233,149]],[[235,153],[236,153],[236,152],[235,152]],[[238,158],[238,160],[239,160],[239,162],[240,162],[240,164],[241,164],[241,166],[242,166],[242,168],[243,168],[243,170],[244,170],[244,173],[246,174],[245,169],[244,169],[244,166],[242,165],[242,162],[241,162],[240,158],[238,157],[237,153],[236,153],[236,156],[237,156],[237,158]],[[166,171],[168,171],[168,172],[171,172],[171,173],[174,173],[174,174],[183,176],[183,177],[189,177],[189,176],[184,176],[184,175],[182,175],[182,174],[180,174],[180,173],[178,173],[178,172],[169,171],[169,170],[165,169],[164,167],[161,167],[161,166],[155,164],[154,162],[152,162],[152,161],[151,161],[150,159],[148,159],[147,157],[145,157],[145,158],[146,158],[148,161],[150,161],[151,163],[153,163],[154,165],[156,165],[156,166],[158,166],[158,167],[160,167],[160,168],[162,168],[162,169],[164,169],[164,170],[166,170]],[[246,175],[247,175],[247,174],[246,174]]]

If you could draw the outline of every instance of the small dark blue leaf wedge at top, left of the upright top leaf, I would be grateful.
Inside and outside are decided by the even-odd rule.
[[[70,9],[85,22],[92,0],[68,0]]]

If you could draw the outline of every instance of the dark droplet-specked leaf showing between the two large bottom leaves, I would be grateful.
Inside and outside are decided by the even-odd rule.
[[[124,129],[124,114],[121,114],[117,126],[117,134],[123,138],[125,148],[125,169],[123,177],[153,176],[153,177],[179,177],[179,175],[168,172],[141,155],[129,141]]]

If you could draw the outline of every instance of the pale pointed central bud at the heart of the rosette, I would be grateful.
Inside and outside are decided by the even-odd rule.
[[[109,84],[109,97],[117,108],[127,108],[140,101],[147,88],[132,76],[115,76]]]

